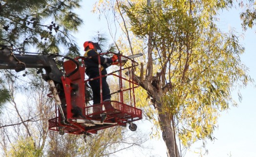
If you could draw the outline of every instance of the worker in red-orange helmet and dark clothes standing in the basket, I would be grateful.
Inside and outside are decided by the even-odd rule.
[[[102,56],[99,56],[98,50],[101,50],[98,43],[94,43],[92,41],[85,41],[84,43],[84,50],[85,50],[85,74],[91,78],[96,78],[89,81],[89,85],[92,89],[92,96],[93,96],[93,113],[97,113],[101,111],[101,95],[100,95],[100,73],[99,73],[99,58],[101,63],[101,75],[107,75],[106,68],[109,67],[111,64],[115,64],[118,56],[113,55],[112,58],[105,58]],[[105,110],[113,109],[110,100],[110,90],[109,86],[107,84],[107,76],[102,77],[102,98],[104,101]],[[98,115],[94,115],[94,117],[97,117]],[[106,118],[107,114],[102,113],[101,117],[103,122]]]

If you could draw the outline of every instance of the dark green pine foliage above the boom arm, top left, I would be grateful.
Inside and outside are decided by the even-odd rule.
[[[42,53],[59,53],[59,46],[79,54],[71,31],[82,20],[73,13],[81,0],[4,0],[0,2],[0,44],[32,46]]]

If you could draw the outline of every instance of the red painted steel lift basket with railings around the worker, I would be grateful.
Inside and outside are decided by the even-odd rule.
[[[101,55],[106,55],[109,53],[103,53]],[[114,53],[112,53],[114,54]],[[122,56],[122,55],[120,55]],[[106,129],[112,126],[121,125],[126,126],[128,122],[136,121],[142,119],[142,111],[136,108],[135,105],[135,90],[134,88],[138,87],[138,84],[133,82],[133,70],[134,66],[137,66],[138,63],[132,59],[131,66],[123,67],[120,66],[117,71],[107,74],[107,76],[112,76],[118,78],[119,81],[119,89],[112,94],[119,93],[119,101],[112,100],[111,105],[112,108],[108,109],[106,106],[108,102],[103,102],[102,100],[102,85],[100,85],[100,93],[101,93],[101,103],[96,105],[89,105],[91,99],[85,97],[86,84],[89,79],[85,80],[85,65],[84,60],[88,58],[78,57],[75,58],[81,66],[79,70],[69,76],[62,77],[62,83],[64,88],[64,96],[60,94],[60,96],[65,98],[65,105],[62,105],[65,115],[65,122],[63,122],[61,113],[57,107],[55,107],[56,114],[55,118],[49,119],[49,129],[59,131],[63,129],[65,133],[70,134],[85,134],[85,133],[97,133],[98,130]],[[100,55],[98,55],[98,59],[100,62]],[[121,61],[121,60],[120,60]],[[121,62],[120,62],[121,65]],[[74,71],[76,65],[73,61],[67,60],[64,62],[64,70],[66,74]],[[128,74],[131,76],[122,76],[123,71],[128,71]],[[102,84],[102,77],[106,75],[101,74],[101,64],[99,64],[99,72],[100,76],[100,84]],[[96,79],[96,78],[93,78]],[[91,80],[91,79],[90,79]],[[123,81],[128,82],[128,88],[125,88],[123,85]],[[60,91],[61,92],[61,91]],[[129,92],[128,95],[130,97],[129,105],[124,102],[124,92]],[[111,94],[111,95],[112,95]],[[92,112],[93,107],[100,107],[100,110],[96,113]],[[94,124],[94,126],[86,125],[85,123],[76,122],[77,119],[87,119],[100,121],[100,114],[107,113],[107,118],[102,124]]]

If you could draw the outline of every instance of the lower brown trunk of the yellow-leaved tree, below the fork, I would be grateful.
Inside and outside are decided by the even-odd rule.
[[[156,105],[157,107],[161,107],[161,104],[159,103],[156,103]],[[162,112],[162,110],[159,109],[158,118],[163,132],[163,139],[166,143],[168,157],[180,157],[173,134],[173,128],[171,127],[171,115],[168,115],[168,113]]]

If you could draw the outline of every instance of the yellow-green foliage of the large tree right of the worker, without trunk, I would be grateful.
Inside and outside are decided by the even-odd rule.
[[[220,8],[228,7],[231,2],[152,0],[151,7],[143,0],[130,2],[131,5],[123,5],[123,11],[128,18],[129,35],[133,33],[130,38],[133,52],[143,52],[143,62],[148,62],[150,32],[153,76],[165,64],[162,81],[172,84],[170,93],[160,100],[159,113],[168,118],[174,115],[178,127],[182,126],[176,131],[185,146],[197,139],[213,139],[218,112],[229,108],[234,83],[246,85],[250,81],[246,67],[240,62],[244,48],[233,32],[220,32],[213,19]],[[117,42],[128,53],[130,45],[124,37]],[[145,116],[155,120],[159,113],[147,96],[142,88],[136,90],[136,97],[140,98],[138,107],[144,107]]]

